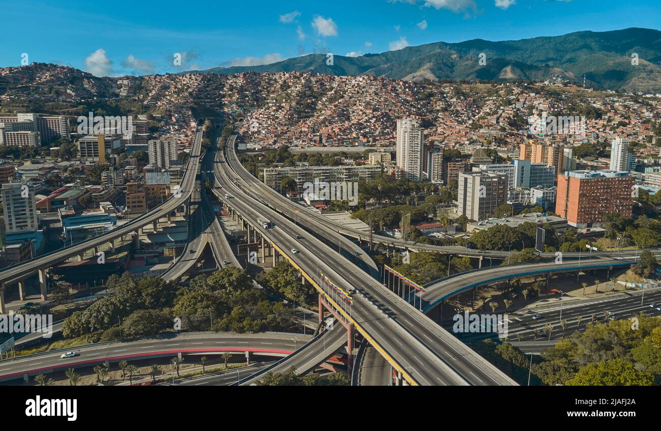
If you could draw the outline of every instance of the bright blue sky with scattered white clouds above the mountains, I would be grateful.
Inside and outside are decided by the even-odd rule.
[[[0,67],[143,75],[430,42],[660,29],[660,0],[5,1]],[[182,64],[173,64],[175,53]]]

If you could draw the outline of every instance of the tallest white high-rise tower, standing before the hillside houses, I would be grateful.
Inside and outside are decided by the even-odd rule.
[[[422,128],[413,118],[397,120],[397,167],[412,181],[422,180]]]

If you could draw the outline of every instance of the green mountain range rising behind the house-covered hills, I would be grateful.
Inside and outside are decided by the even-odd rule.
[[[484,55],[482,55],[484,54]],[[661,31],[626,28],[491,42],[436,42],[360,57],[309,54],[277,63],[214,67],[186,73],[309,71],[394,79],[546,81],[598,89],[661,93]],[[483,61],[480,61],[483,59]]]

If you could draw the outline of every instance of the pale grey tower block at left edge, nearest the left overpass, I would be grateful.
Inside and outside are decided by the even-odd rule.
[[[2,200],[5,233],[38,229],[34,188],[22,182],[8,182],[2,185]]]

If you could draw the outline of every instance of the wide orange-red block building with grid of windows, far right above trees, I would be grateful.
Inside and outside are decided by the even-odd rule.
[[[602,223],[604,214],[631,217],[634,179],[622,171],[568,171],[558,176],[555,212],[574,227]]]

